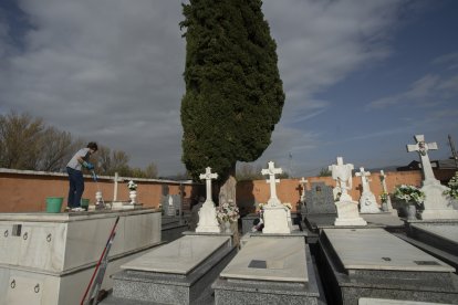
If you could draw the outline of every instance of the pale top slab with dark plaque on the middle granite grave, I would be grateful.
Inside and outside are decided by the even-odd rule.
[[[221,272],[226,278],[308,282],[304,239],[251,236]]]

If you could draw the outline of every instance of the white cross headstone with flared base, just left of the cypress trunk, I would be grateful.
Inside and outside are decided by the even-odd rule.
[[[200,179],[206,180],[207,198],[199,210],[199,223],[197,224],[196,232],[220,232],[215,203],[211,199],[211,180],[217,178],[218,173],[212,173],[210,167],[207,167],[205,173],[200,175]]]

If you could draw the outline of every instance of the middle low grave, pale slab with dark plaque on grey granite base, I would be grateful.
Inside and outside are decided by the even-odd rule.
[[[211,287],[215,304],[320,304],[304,236],[250,236]]]

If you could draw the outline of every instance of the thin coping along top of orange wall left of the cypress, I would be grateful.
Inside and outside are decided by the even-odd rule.
[[[66,172],[52,172],[52,171],[37,171],[37,170],[22,170],[22,169],[10,169],[10,168],[0,168],[0,173],[11,173],[11,175],[24,175],[24,176],[48,176],[48,177],[67,177]],[[91,175],[83,175],[85,178],[92,178]],[[98,180],[112,180],[114,181],[114,176],[97,176]],[[134,180],[135,182],[156,182],[156,183],[168,183],[168,185],[199,185],[192,182],[192,180],[164,180],[164,179],[149,179],[149,178],[134,178],[134,177],[118,177],[119,182]]]

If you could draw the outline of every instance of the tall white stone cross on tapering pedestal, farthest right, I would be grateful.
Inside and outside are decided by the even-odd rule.
[[[455,210],[450,201],[444,194],[447,187],[434,177],[433,167],[429,161],[428,150],[437,149],[436,143],[426,143],[424,135],[416,135],[416,144],[407,145],[407,151],[417,151],[424,175],[421,191],[425,193],[423,202],[425,209],[420,213],[420,219],[458,219],[458,210]]]

